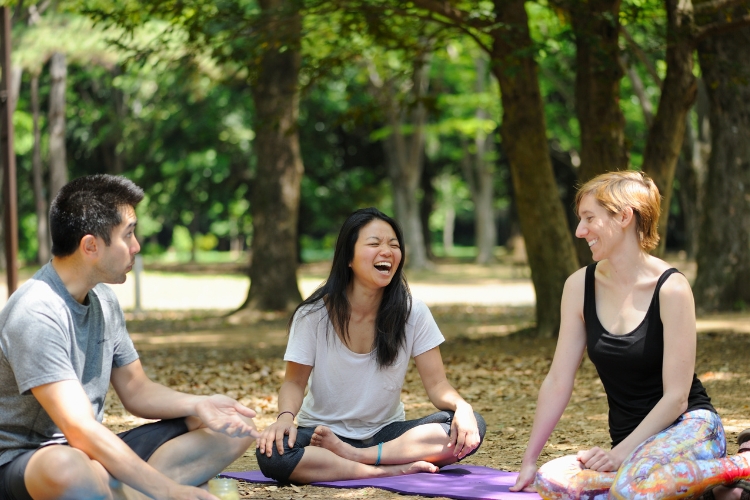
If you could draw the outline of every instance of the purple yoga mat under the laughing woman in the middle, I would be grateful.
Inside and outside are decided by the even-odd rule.
[[[225,472],[222,477],[242,479],[251,483],[276,481],[260,471]],[[541,498],[536,493],[515,493],[508,488],[516,482],[517,472],[505,472],[480,465],[448,465],[436,474],[411,474],[408,476],[353,479],[350,481],[323,481],[313,486],[331,488],[381,488],[406,495],[448,497],[461,500],[533,500]]]

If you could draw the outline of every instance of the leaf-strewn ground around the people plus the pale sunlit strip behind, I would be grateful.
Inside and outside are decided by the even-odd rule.
[[[685,271],[688,278],[693,277],[694,266],[690,263],[675,264]],[[324,278],[326,269],[323,267],[303,269],[303,293],[309,293]],[[277,411],[288,318],[264,314],[234,321],[225,316],[227,308],[232,307],[226,302],[224,308],[214,310],[191,309],[194,306],[190,306],[189,301],[182,302],[180,310],[166,309],[173,303],[167,299],[179,302],[188,294],[204,298],[219,295],[232,286],[232,282],[227,281],[229,278],[240,280],[239,285],[234,285],[239,290],[235,294],[242,295],[242,291],[246,293],[247,290],[247,282],[241,281],[241,276],[226,276],[234,273],[223,268],[177,271],[193,277],[182,276],[180,279],[187,281],[177,283],[169,281],[173,279],[172,274],[146,274],[147,278],[156,279],[154,288],[164,287],[149,299],[154,304],[164,300],[161,310],[126,314],[128,329],[147,373],[178,390],[195,394],[220,392],[235,397],[258,412],[256,423],[260,429],[264,428],[272,422]],[[195,276],[196,272],[199,276]],[[465,462],[518,471],[533,420],[537,391],[555,348],[553,339],[538,339],[532,334],[533,289],[530,302],[526,295],[530,287],[528,268],[441,264],[429,272],[410,274],[409,280],[414,295],[430,305],[446,337],[441,352],[449,380],[487,421],[483,446]],[[132,286],[130,278],[128,282]],[[150,282],[144,280],[144,283],[151,287]],[[132,297],[127,288],[121,292],[125,298]],[[448,299],[441,300],[446,297]],[[235,298],[241,299],[242,296]],[[702,317],[698,321],[698,331],[696,372],[722,416],[729,452],[734,453],[737,434],[750,427],[750,368],[747,364],[750,314]],[[406,376],[402,399],[407,418],[433,411],[413,363]],[[106,425],[121,431],[142,422],[128,415],[110,392]],[[593,365],[585,358],[578,371],[571,402],[539,463],[580,449],[595,445],[606,447],[608,444],[606,398]],[[254,449],[251,449],[228,470],[257,468]],[[383,500],[396,497],[394,493],[374,488],[337,490],[248,483],[241,485],[241,491],[243,498],[275,500]]]

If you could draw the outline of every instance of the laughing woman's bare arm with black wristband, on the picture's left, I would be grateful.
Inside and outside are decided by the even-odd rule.
[[[266,456],[270,457],[273,454],[274,442],[279,455],[284,454],[284,436],[289,436],[289,446],[294,444],[297,438],[294,416],[302,407],[302,398],[305,395],[310,372],[312,372],[312,366],[287,361],[284,383],[279,389],[279,417],[276,422],[263,429],[258,438],[257,447]]]

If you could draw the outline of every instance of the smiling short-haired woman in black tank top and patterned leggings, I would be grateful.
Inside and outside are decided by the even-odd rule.
[[[750,455],[723,458],[721,420],[695,376],[695,307],[687,279],[649,255],[661,197],[639,172],[580,188],[576,236],[595,264],[565,283],[560,336],[539,390],[534,425],[511,490],[543,498],[739,498]],[[573,391],[588,349],[609,403],[612,448],[536,461]],[[729,488],[718,487],[727,485]]]

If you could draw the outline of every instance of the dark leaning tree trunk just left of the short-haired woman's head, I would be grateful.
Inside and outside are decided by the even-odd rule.
[[[495,0],[492,71],[500,82],[501,134],[536,291],[537,331],[560,326],[567,277],[578,267],[547,148],[546,123],[523,0]]]

